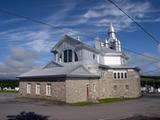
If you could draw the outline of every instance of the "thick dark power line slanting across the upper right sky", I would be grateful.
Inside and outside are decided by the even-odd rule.
[[[149,33],[142,25],[140,25],[138,22],[136,22],[131,16],[129,16],[122,8],[120,8],[115,2],[112,0],[108,0],[110,3],[112,3],[116,8],[118,8],[121,12],[123,12],[128,18],[130,18],[143,32],[145,32],[150,38],[155,41],[157,44],[160,43],[159,40],[157,40],[151,33]]]

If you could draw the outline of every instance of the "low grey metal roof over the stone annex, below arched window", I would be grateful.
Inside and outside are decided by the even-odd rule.
[[[17,78],[39,78],[39,77],[99,77],[98,74],[90,73],[83,65],[74,63],[63,66],[44,67],[34,69],[19,75]]]

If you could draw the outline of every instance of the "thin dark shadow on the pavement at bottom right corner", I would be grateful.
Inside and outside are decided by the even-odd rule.
[[[120,119],[120,120],[160,120],[160,117],[135,115],[133,117],[129,117],[129,118],[125,118],[125,119]]]

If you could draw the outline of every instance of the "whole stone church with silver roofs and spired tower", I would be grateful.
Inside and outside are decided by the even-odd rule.
[[[65,35],[51,49],[53,60],[18,76],[19,94],[67,103],[139,97],[139,69],[127,65],[112,23],[107,36],[91,47]]]

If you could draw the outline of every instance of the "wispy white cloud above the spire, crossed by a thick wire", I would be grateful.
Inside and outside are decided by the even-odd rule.
[[[135,20],[143,19],[146,13],[151,9],[149,2],[118,1],[117,4]],[[124,30],[132,27],[133,23],[124,13],[109,2],[90,8],[83,15],[83,18],[88,21],[94,21],[95,24],[93,25],[99,27],[108,26],[109,22],[112,21],[117,30]],[[90,23],[92,24],[93,22]]]

